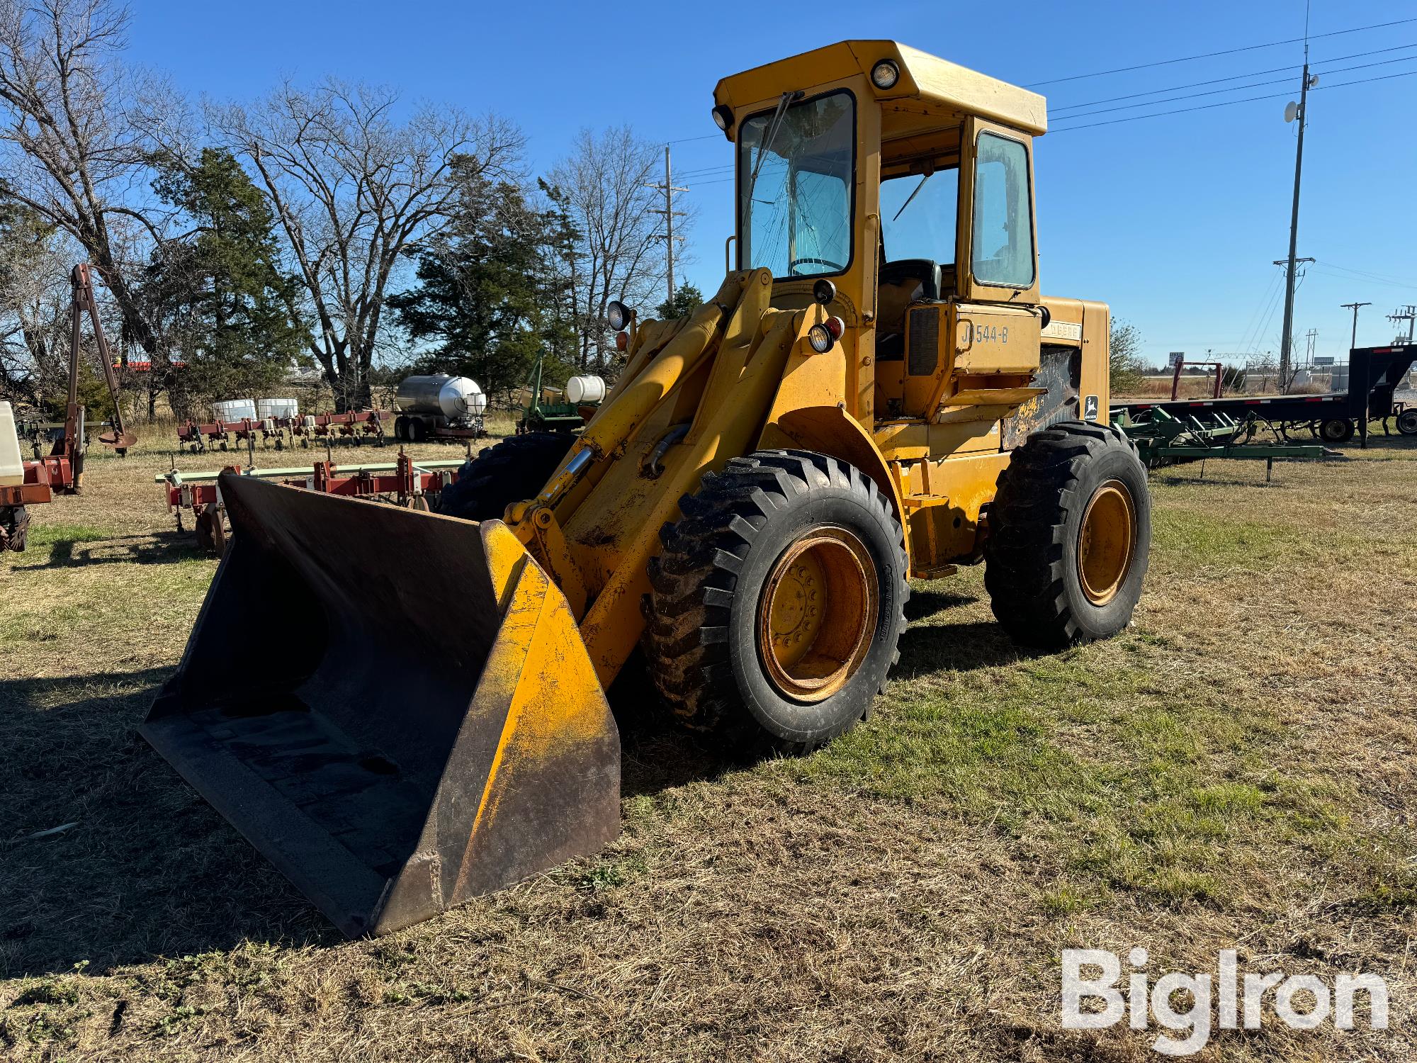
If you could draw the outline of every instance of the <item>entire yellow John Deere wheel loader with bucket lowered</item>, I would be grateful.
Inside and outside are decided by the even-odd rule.
[[[636,646],[687,726],[805,751],[883,689],[910,578],[982,560],[1034,646],[1132,614],[1108,310],[1039,293],[1043,98],[845,41],[714,103],[737,261],[683,319],[611,306],[580,435],[483,451],[441,513],[221,479],[232,546],[143,734],[347,934],[609,842]]]

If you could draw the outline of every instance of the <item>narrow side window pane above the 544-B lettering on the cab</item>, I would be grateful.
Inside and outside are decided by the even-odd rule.
[[[1033,286],[1029,152],[1017,140],[979,135],[973,189],[973,275],[986,285]]]

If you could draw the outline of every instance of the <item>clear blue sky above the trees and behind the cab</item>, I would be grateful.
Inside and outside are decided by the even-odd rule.
[[[708,109],[721,75],[849,37],[900,40],[1032,85],[1304,33],[1302,0],[1007,7],[813,0],[754,4],[745,9],[748,26],[731,21],[734,10],[136,0],[130,51],[194,96],[242,99],[285,75],[336,74],[397,85],[408,99],[496,111],[529,133],[536,170],[550,166],[581,126],[628,122],[646,139],[704,137],[714,132]],[[1318,37],[1311,45],[1321,75],[1335,72],[1322,75],[1322,88],[1311,95],[1305,133],[1298,252],[1318,264],[1297,298],[1301,351],[1308,329],[1318,330],[1318,353],[1346,350],[1350,316],[1340,303],[1373,303],[1359,319],[1359,343],[1372,344],[1393,336],[1396,326],[1384,315],[1417,302],[1417,77],[1328,88],[1417,72],[1417,1],[1315,0],[1309,30],[1316,35],[1403,18],[1414,21]],[[1414,47],[1404,50],[1407,44]],[[1389,51],[1359,55],[1377,50]],[[1091,119],[1056,116],[1036,156],[1044,292],[1110,302],[1142,330],[1146,353],[1158,360],[1169,350],[1275,350],[1282,291],[1271,262],[1288,249],[1295,135],[1282,111],[1297,96],[1299,62],[1302,45],[1287,44],[1039,86],[1053,109],[1236,75],[1251,77],[1159,95],[1288,78]],[[1338,72],[1374,62],[1383,65]],[[1277,71],[1285,67],[1295,69]],[[1063,132],[1084,120],[1271,94],[1280,98]],[[691,186],[687,198],[697,211],[689,279],[713,291],[733,224],[733,186],[716,181],[713,167],[731,160],[730,146],[707,136],[673,150],[676,171],[700,174],[676,181]]]

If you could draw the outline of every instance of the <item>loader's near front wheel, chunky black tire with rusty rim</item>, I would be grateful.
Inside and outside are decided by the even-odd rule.
[[[853,727],[900,653],[904,537],[876,485],[808,451],[760,451],[680,499],[649,561],[643,648],[679,720],[806,753]]]

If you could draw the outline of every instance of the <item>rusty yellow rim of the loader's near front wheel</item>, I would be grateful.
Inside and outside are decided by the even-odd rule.
[[[830,697],[866,659],[879,608],[866,544],[843,527],[812,529],[782,551],[758,600],[768,679],[799,702]]]

